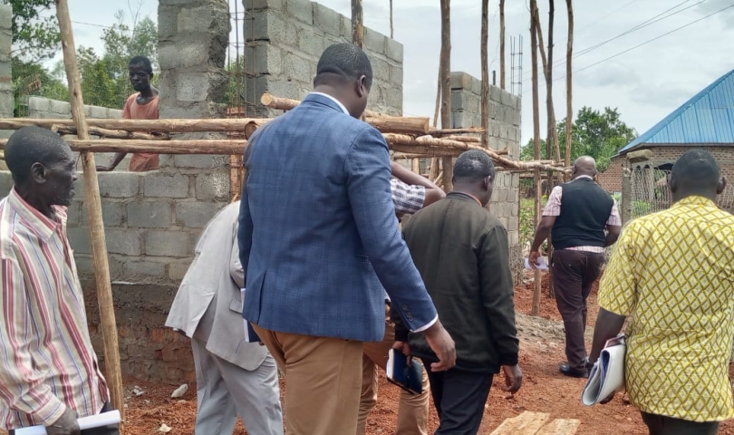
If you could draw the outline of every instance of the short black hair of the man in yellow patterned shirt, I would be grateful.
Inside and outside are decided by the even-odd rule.
[[[719,163],[707,150],[686,151],[671,169],[671,178],[676,180],[679,189],[684,190],[715,190],[719,186],[719,177]]]

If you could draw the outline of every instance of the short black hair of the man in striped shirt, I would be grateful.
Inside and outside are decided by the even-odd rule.
[[[53,131],[28,126],[15,131],[5,145],[5,163],[15,183],[23,183],[31,175],[34,163],[51,166],[72,153],[69,145]]]

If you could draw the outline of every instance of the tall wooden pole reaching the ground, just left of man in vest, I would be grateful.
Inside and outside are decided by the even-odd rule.
[[[532,59],[532,73],[533,73],[533,153],[536,160],[540,160],[540,110],[539,110],[539,99],[537,93],[537,21],[535,13],[537,11],[537,0],[530,0],[530,50]],[[536,227],[540,223],[540,180],[541,174],[540,169],[536,169],[535,183],[536,183],[536,198],[535,198],[535,221]],[[540,290],[541,290],[541,278],[542,275],[540,270],[536,269],[535,273],[535,288],[533,291],[533,315],[540,314]]]

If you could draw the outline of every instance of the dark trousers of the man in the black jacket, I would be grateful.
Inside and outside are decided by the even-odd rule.
[[[455,369],[431,372],[428,367],[428,375],[430,393],[440,420],[434,435],[476,435],[494,374]]]

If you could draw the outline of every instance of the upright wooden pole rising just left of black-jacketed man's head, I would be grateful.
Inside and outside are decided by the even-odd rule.
[[[450,129],[451,122],[451,0],[441,1],[441,128]],[[443,165],[443,190],[449,193],[454,189],[454,158],[444,157]]]

